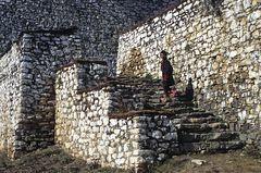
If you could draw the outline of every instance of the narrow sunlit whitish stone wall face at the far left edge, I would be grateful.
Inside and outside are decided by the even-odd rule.
[[[0,60],[0,150],[5,150],[12,157],[21,111],[21,51],[20,45]]]

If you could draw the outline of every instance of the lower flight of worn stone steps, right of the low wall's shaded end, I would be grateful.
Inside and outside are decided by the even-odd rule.
[[[182,152],[216,152],[243,147],[239,133],[229,131],[227,123],[212,113],[190,112],[179,116]]]

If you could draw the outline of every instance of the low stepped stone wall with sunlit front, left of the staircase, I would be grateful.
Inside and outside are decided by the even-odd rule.
[[[102,87],[86,85],[83,89],[79,76],[89,66],[94,66],[89,75],[100,78],[98,86]],[[98,66],[90,62],[85,65],[75,63],[57,73],[55,143],[88,162],[124,169],[161,161],[177,153],[175,124],[178,121],[175,115],[159,113],[152,116],[139,112],[129,116],[110,115],[115,113],[112,107],[117,107],[116,100],[112,99],[117,97],[113,94],[126,92],[122,89],[124,87],[113,86],[123,84],[104,85],[104,75],[97,73]]]

